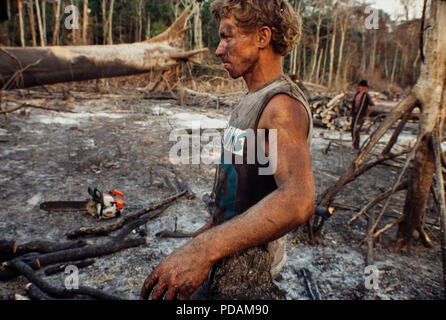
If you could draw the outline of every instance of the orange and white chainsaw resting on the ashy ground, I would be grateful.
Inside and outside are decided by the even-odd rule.
[[[47,201],[40,205],[40,209],[53,211],[82,211],[101,219],[119,217],[124,209],[124,195],[113,190],[104,193],[100,189],[88,188],[91,199],[86,201]]]

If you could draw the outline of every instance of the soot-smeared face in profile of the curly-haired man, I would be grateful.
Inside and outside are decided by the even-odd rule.
[[[221,20],[219,33],[220,44],[215,55],[220,58],[232,78],[244,76],[258,60],[256,33],[242,33],[232,17]]]

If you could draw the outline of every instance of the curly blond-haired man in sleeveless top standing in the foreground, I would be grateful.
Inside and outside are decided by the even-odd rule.
[[[273,279],[286,258],[286,234],[314,215],[311,112],[282,66],[300,38],[300,17],[286,0],[216,0],[211,9],[220,23],[216,56],[232,78],[243,77],[249,92],[226,130],[211,221],[154,269],[143,299],[189,299],[206,279],[222,276],[222,265],[253,248],[268,257],[268,274],[258,278]],[[249,161],[250,138],[269,163],[259,150]],[[244,260],[241,282],[252,286],[249,268],[260,260]]]

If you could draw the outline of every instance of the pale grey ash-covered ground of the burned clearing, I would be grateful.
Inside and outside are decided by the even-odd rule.
[[[146,245],[96,258],[94,265],[80,269],[81,285],[138,299],[152,269],[187,241],[160,239],[155,234],[166,229],[195,231],[209,219],[201,197],[212,190],[215,166],[173,166],[169,150],[175,142],[169,141],[169,135],[173,128],[190,127],[192,120],[200,121],[202,127],[224,128],[230,109],[179,106],[173,100],[151,100],[136,90],[120,89],[113,94],[73,90],[68,100],[62,100],[55,91],[52,95],[43,90],[23,91],[24,96],[18,99],[67,112],[31,108],[26,114],[0,118],[0,238],[17,240],[19,244],[67,241],[68,231],[113,222],[97,221],[82,213],[47,213],[39,209],[41,202],[84,200],[88,198],[87,188],[93,186],[123,192],[125,210],[131,212],[173,194],[175,191],[163,177],[171,179],[175,171],[197,197],[177,200],[161,217],[150,221],[145,228]],[[313,168],[319,194],[348,168],[355,152],[348,133],[315,129],[313,138]],[[413,138],[413,132],[407,130],[400,144]],[[297,242],[288,243],[289,260],[276,281],[287,292],[287,299],[309,299],[299,273],[302,268],[312,273],[322,299],[443,299],[435,209],[426,213],[426,228],[434,247],[427,249],[414,241],[408,253],[397,252],[393,249],[396,230],[391,229],[375,248],[379,289],[364,287],[366,246],[360,243],[367,220],[360,219],[352,226],[346,223],[359,208],[393,186],[400,165],[394,162],[393,166],[375,167],[344,187],[336,202],[352,209],[338,209],[315,245],[307,243],[303,228],[298,231],[301,234]],[[392,198],[382,225],[399,216],[404,195],[401,192]],[[430,207],[435,208],[432,203]],[[380,207],[374,210],[379,213]],[[290,234],[289,240],[293,237]],[[104,241],[100,237],[87,240]],[[55,285],[64,284],[64,274],[46,277],[42,270],[38,274]],[[25,284],[23,277],[0,282],[0,298],[25,294]]]

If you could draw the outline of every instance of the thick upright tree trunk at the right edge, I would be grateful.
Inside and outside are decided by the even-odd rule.
[[[429,17],[431,28],[427,30],[424,48],[426,60],[413,89],[422,105],[420,115],[422,145],[411,166],[409,189],[396,236],[397,248],[403,251],[408,249],[413,232],[422,227],[435,172],[432,132],[439,125],[439,115],[444,113],[446,107],[446,24],[444,23],[446,1],[431,1]]]

